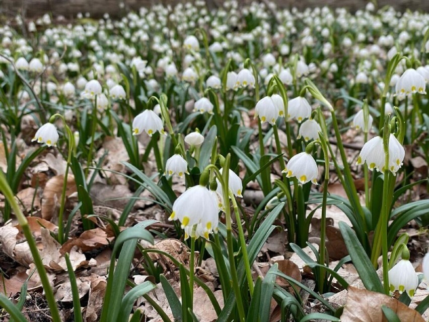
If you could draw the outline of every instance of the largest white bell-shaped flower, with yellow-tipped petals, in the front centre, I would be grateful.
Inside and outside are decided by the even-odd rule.
[[[192,227],[204,223],[204,232],[209,233],[218,225],[218,201],[215,195],[203,185],[190,187],[173,204],[173,212],[168,220],[178,219],[181,227]],[[216,220],[215,220],[216,218]]]

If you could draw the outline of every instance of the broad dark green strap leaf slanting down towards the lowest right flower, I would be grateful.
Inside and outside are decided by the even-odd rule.
[[[348,253],[350,254],[351,261],[356,271],[358,271],[359,276],[362,277],[362,282],[365,287],[370,291],[383,293],[383,285],[364,247],[362,247],[358,240],[358,237],[356,237],[353,230],[344,222],[340,221],[339,227]]]

